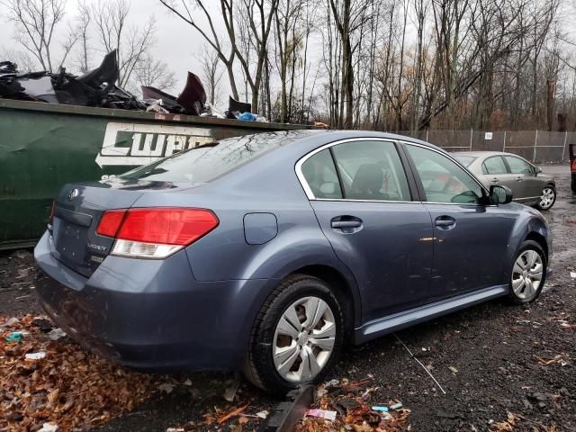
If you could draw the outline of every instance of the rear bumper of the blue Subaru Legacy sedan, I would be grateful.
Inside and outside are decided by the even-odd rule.
[[[166,260],[106,257],[86,278],[34,249],[40,302],[79,344],[122,365],[230,370],[242,365],[257,309],[274,280],[199,283],[181,251]]]

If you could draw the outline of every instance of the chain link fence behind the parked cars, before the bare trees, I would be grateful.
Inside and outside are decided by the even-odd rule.
[[[410,130],[398,132],[422,139],[447,151],[506,151],[532,162],[565,162],[576,132],[543,130]]]

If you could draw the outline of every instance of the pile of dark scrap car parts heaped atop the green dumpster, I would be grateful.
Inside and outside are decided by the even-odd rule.
[[[206,102],[206,92],[200,78],[188,72],[184,90],[177,97],[151,86],[143,85],[143,99],[122,89],[115,83],[120,76],[116,50],[106,54],[99,67],[83,76],[46,71],[20,74],[11,61],[0,61],[0,98],[21,101],[95,106],[102,108],[199,115],[266,121],[250,112],[250,103],[240,103],[229,97],[229,109],[219,112]]]

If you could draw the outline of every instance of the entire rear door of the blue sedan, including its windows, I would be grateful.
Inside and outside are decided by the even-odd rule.
[[[322,231],[362,290],[364,319],[424,302],[432,224],[424,205],[412,200],[415,183],[396,144],[330,144],[302,159],[297,170]]]

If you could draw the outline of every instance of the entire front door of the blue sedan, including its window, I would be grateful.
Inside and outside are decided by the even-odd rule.
[[[482,205],[482,186],[445,154],[406,144],[434,225],[430,292],[437,298],[506,284],[506,256],[514,219]]]

